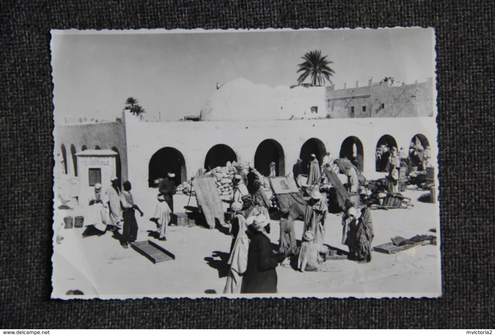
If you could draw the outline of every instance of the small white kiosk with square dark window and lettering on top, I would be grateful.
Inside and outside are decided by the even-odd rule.
[[[86,207],[95,192],[95,184],[101,184],[101,192],[110,186],[110,178],[117,175],[117,153],[112,150],[84,150],[76,153],[79,172],[79,204]]]

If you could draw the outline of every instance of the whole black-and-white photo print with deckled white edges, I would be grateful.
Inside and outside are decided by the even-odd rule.
[[[433,28],[50,48],[52,298],[442,295]]]

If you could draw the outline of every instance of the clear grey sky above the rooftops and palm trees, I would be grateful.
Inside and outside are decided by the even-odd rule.
[[[130,96],[145,120],[199,115],[216,83],[297,84],[311,50],[333,61],[336,89],[384,77],[421,83],[435,77],[434,42],[432,28],[52,31],[55,122],[114,120]]]

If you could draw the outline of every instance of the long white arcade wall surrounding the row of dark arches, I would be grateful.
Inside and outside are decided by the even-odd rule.
[[[145,201],[155,201],[157,191],[148,187],[148,165],[153,154],[163,147],[182,153],[188,179],[203,168],[208,150],[217,144],[229,146],[238,161],[254,166],[256,149],[266,139],[282,147],[285,174],[292,174],[302,145],[311,138],[319,139],[331,157],[338,158],[344,140],[357,137],[362,142],[363,173],[368,178],[384,175],[375,172],[375,150],[385,134],[393,136],[398,147],[406,148],[414,135],[423,134],[430,142],[433,157],[437,155],[437,126],[428,117],[218,122],[140,122],[129,118],[126,127],[129,180],[134,194]]]

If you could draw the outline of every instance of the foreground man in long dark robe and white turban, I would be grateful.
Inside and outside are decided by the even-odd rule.
[[[241,293],[277,293],[277,255],[267,236],[270,221],[257,215],[249,231],[253,234],[247,251],[247,269]],[[251,228],[252,227],[252,228]]]

